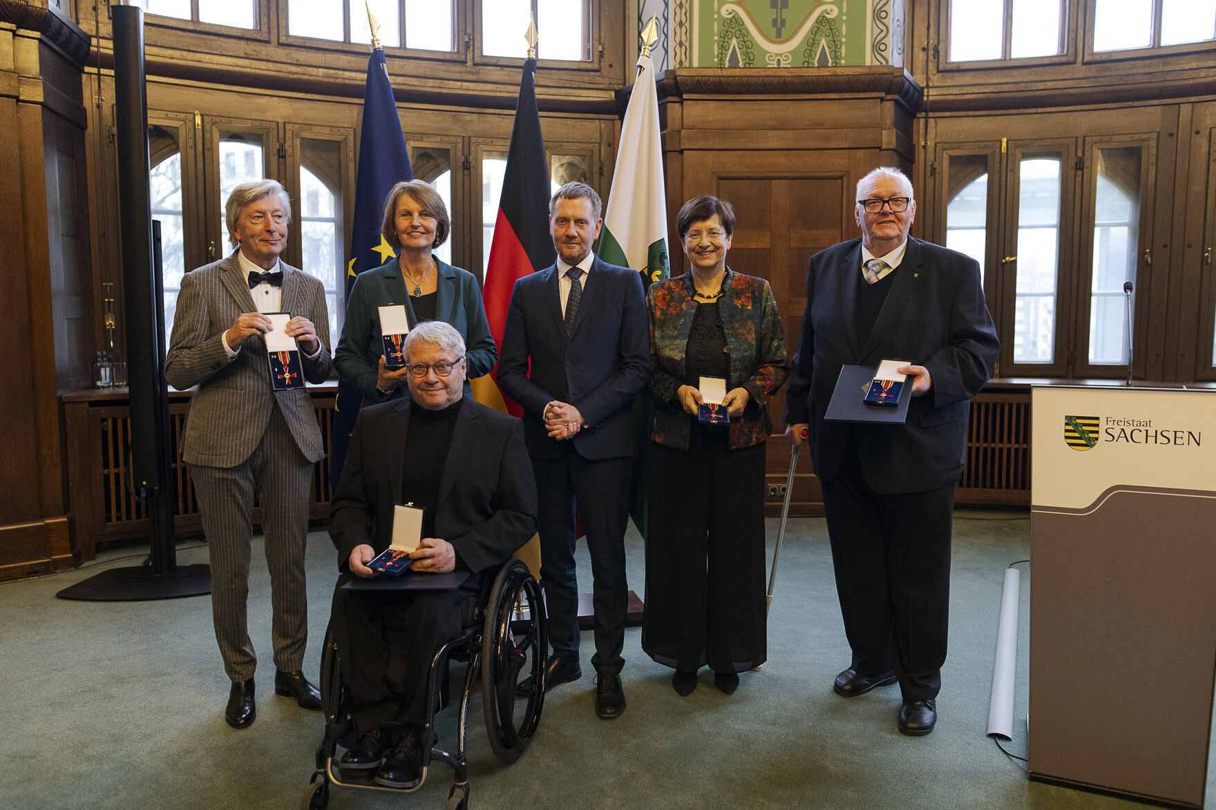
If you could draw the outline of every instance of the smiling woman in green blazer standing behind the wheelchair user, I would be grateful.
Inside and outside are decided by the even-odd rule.
[[[410,328],[421,321],[444,321],[461,333],[468,359],[466,396],[473,395],[468,381],[490,373],[499,360],[477,279],[432,255],[450,231],[447,207],[426,182],[402,181],[389,191],[381,234],[396,258],[355,279],[333,355],[338,376],[362,392],[365,406],[405,396],[409,390],[409,372],[385,367],[379,306],[405,305]]]

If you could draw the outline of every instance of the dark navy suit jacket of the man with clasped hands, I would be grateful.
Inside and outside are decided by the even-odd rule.
[[[557,265],[516,281],[499,356],[499,387],[524,410],[524,440],[536,459],[564,448],[545,429],[545,406],[579,409],[587,428],[572,439],[591,460],[631,456],[636,445],[634,394],[651,373],[642,277],[597,257],[565,337]]]

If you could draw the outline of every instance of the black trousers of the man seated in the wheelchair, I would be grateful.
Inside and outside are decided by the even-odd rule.
[[[358,733],[427,722],[430,663],[472,621],[482,579],[439,591],[334,590],[332,621]]]

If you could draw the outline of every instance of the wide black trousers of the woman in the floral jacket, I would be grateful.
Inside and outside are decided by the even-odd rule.
[[[767,658],[765,445],[694,427],[689,451],[652,444],[642,649],[679,670],[742,673]]]

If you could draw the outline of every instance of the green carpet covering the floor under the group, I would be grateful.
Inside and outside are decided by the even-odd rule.
[[[510,767],[490,752],[480,696],[471,704],[471,804],[519,808],[1115,808],[1122,799],[1030,782],[1025,766],[985,737],[1003,569],[1029,556],[1026,512],[959,511],[955,522],[951,652],[938,727],[895,730],[897,687],[844,699],[832,693],[849,663],[822,519],[790,519],[769,623],[769,663],[727,697],[702,671],[679,697],[671,670],[625,636],[629,708],[613,721],[592,710],[591,634],[584,677],[546,698],[531,748]],[[777,522],[769,523],[770,559]],[[269,580],[255,541],[250,635],[261,654],[258,720],[224,724],[227,680],[212,635],[210,600],[69,602],[55,592],[100,567],[137,564],[146,547],[112,547],[97,566],[0,585],[2,808],[294,808],[313,769],[321,715],[274,694]],[[641,539],[627,538],[631,586],[643,589]],[[123,559],[126,556],[134,558]],[[207,562],[184,542],[180,564]],[[1028,594],[1021,584],[1015,739],[1025,755]],[[580,547],[581,590],[590,568]],[[309,536],[315,674],[328,618],[334,553]],[[454,666],[454,669],[457,669]],[[460,668],[462,669],[462,668]],[[455,713],[440,725],[451,742]],[[412,795],[334,789],[330,806],[443,808],[451,770],[435,765]],[[1209,781],[1209,797],[1216,794]],[[1209,800],[1212,804],[1212,799]]]

